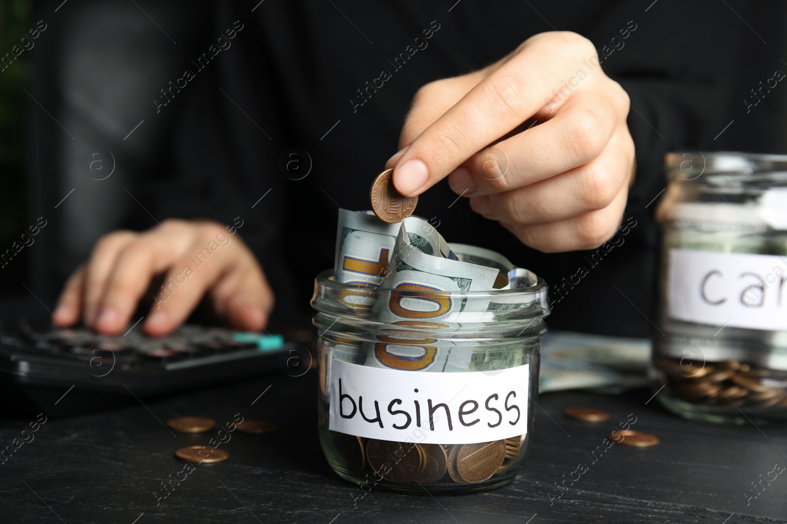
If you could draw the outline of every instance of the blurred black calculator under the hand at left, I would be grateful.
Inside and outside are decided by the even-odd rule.
[[[186,324],[153,338],[139,326],[107,336],[44,319],[0,324],[0,387],[24,410],[54,416],[310,365],[305,345],[268,333]]]

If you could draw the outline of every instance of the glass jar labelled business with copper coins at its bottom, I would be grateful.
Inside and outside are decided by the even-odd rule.
[[[512,289],[488,292],[316,277],[320,442],[338,475],[364,489],[423,494],[492,489],[519,473],[549,314],[547,285],[521,271]],[[370,314],[381,301],[457,313],[383,324]]]

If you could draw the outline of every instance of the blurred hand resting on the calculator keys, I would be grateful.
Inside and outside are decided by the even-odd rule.
[[[273,309],[273,291],[249,247],[216,222],[169,219],[144,233],[116,231],[98,240],[90,260],[68,279],[53,321],[70,326],[82,317],[95,331],[126,328],[150,280],[163,288],[146,315],[148,335],[166,335],[189,316],[202,295],[238,329],[257,331]]]

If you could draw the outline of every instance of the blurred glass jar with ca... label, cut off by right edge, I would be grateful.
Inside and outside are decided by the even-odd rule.
[[[787,420],[787,156],[671,153],[666,167],[656,398],[690,419]]]

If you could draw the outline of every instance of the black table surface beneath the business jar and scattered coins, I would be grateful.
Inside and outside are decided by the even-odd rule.
[[[514,481],[486,493],[438,497],[367,492],[331,471],[317,438],[314,369],[301,377],[264,376],[166,398],[129,395],[129,404],[114,409],[50,417],[33,441],[21,445],[0,466],[0,522],[787,521],[787,475],[760,482],[774,464],[787,464],[787,428],[681,420],[657,400],[648,401],[651,395],[541,395],[530,458]],[[61,400],[68,401],[69,395]],[[570,406],[605,409],[611,420],[567,419],[563,409]],[[183,478],[176,449],[205,445],[218,429],[172,434],[162,421],[209,416],[224,426],[238,413],[277,421],[281,430],[231,433],[222,445],[228,460],[195,465],[164,491],[162,482]],[[632,413],[634,429],[656,434],[660,444],[612,445],[593,462],[593,450]],[[33,420],[0,420],[0,447]],[[588,470],[573,485],[566,482],[568,489],[556,498],[556,483],[575,477],[581,463]],[[759,493],[752,482],[764,489],[747,500]]]

